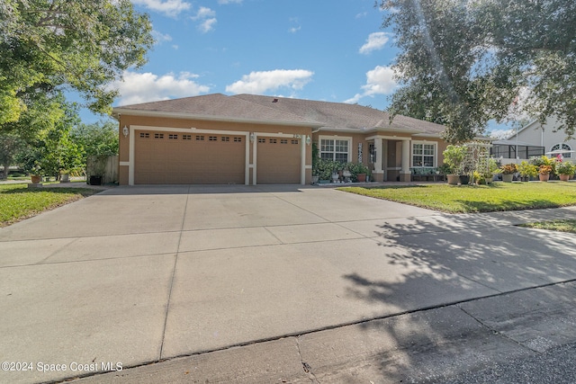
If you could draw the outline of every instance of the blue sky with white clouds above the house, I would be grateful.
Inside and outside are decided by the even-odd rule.
[[[132,0],[157,40],[114,106],[266,94],[384,110],[398,53],[374,0]],[[83,121],[99,117],[82,113]],[[496,127],[492,127],[496,128]]]

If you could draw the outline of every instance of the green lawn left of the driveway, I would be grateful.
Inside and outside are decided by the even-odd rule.
[[[30,218],[44,210],[52,210],[72,201],[90,196],[97,190],[86,188],[39,188],[29,190],[27,184],[0,185],[0,227]]]

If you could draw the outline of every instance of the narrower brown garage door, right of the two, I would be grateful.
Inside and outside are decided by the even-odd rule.
[[[300,183],[300,139],[259,137],[258,184]]]

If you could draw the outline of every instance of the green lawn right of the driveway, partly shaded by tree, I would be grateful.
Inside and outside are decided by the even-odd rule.
[[[338,189],[449,213],[535,210],[576,205],[576,183],[415,184]]]

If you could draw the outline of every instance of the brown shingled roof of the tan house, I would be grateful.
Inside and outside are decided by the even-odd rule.
[[[318,102],[256,94],[207,94],[114,108],[114,115],[172,116],[211,121],[247,121],[308,126],[320,130],[397,131],[439,135],[444,127],[357,104]]]

